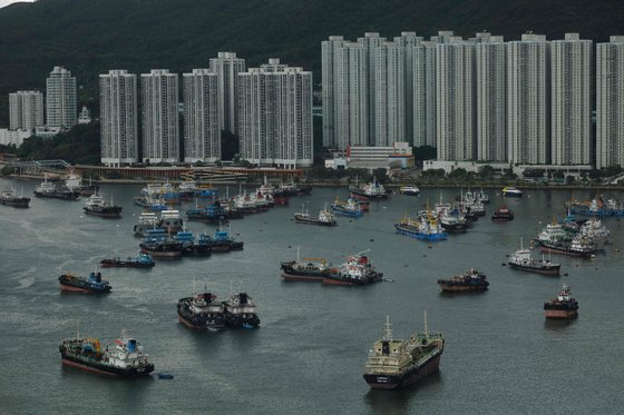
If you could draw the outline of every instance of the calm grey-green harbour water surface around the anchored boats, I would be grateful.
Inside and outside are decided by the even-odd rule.
[[[0,180],[32,195],[36,182]],[[529,190],[509,199],[516,220],[493,224],[501,201],[490,190],[488,216],[464,235],[428,244],[394,233],[393,221],[440,192],[393,196],[371,204],[360,219],[339,218],[335,228],[291,220],[302,205],[316,213],[341,188],[314,188],[289,207],[232,221],[243,251],[206,259],[158,260],[149,270],[104,269],[107,296],[60,294],[57,278],[85,275],[100,259],[134,256],[133,205],[140,186],[103,186],[124,207],[121,219],[82,215],[80,201],[37,199],[30,209],[0,206],[0,413],[237,413],[237,414],[507,414],[621,413],[624,403],[624,220],[605,219],[613,241],[584,260],[557,256],[558,278],[501,266],[553,215],[569,191]],[[230,190],[233,190],[231,188]],[[576,198],[591,197],[575,191]],[[605,195],[624,198],[623,194]],[[181,207],[184,213],[191,205]],[[187,223],[194,231],[215,227]],[[280,261],[368,254],[384,276],[369,287],[284,283]],[[622,249],[622,251],[616,250]],[[442,295],[438,278],[475,267],[490,289]],[[177,322],[176,303],[206,285],[225,299],[244,290],[259,305],[256,330],[194,333]],[[572,322],[546,322],[543,303],[567,283],[579,303]],[[394,337],[429,328],[445,334],[440,372],[415,387],[370,391],[362,379],[367,353],[383,334]],[[61,366],[58,344],[80,334],[104,343],[127,329],[138,338],[156,376],[118,379]]]

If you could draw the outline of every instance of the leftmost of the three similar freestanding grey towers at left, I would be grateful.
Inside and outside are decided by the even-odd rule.
[[[120,166],[139,160],[137,76],[109,70],[99,76],[101,162]]]

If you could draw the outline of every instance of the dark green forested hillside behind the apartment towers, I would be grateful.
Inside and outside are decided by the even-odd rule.
[[[218,51],[257,66],[269,57],[314,70],[320,42],[365,31],[429,37],[489,30],[517,39],[533,30],[549,39],[566,31],[594,41],[624,33],[621,0],[39,0],[0,9],[0,126],[8,93],[45,89],[55,65],[78,78],[80,103],[97,109],[97,75],[108,69],[188,71]]]

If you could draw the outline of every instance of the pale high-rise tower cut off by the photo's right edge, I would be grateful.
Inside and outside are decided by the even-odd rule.
[[[624,36],[596,46],[596,168],[624,167]]]

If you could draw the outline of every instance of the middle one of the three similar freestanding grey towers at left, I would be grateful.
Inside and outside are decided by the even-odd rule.
[[[177,73],[152,69],[140,75],[143,159],[150,162],[179,161],[179,115]]]

